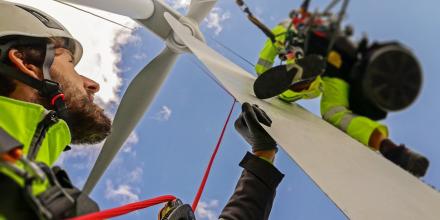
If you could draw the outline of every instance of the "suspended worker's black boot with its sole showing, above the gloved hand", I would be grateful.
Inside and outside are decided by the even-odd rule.
[[[254,93],[259,99],[277,96],[296,83],[313,80],[325,70],[325,62],[320,55],[309,55],[297,59],[296,64],[272,67],[254,82]]]

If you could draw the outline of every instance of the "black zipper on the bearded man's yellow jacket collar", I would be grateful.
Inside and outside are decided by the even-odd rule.
[[[38,151],[40,150],[41,144],[43,143],[44,138],[46,137],[46,133],[49,128],[58,122],[58,117],[54,111],[50,111],[44,118],[41,120],[37,129],[35,130],[34,136],[32,138],[31,145],[29,146],[29,152],[27,154],[27,158],[29,160],[35,160],[37,157]]]

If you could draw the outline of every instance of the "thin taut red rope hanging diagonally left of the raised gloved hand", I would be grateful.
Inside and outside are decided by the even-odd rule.
[[[222,143],[226,127],[228,126],[229,120],[231,119],[232,111],[234,110],[235,102],[236,100],[234,99],[234,103],[232,103],[231,110],[229,111],[228,117],[226,118],[225,124],[223,125],[220,137],[218,138],[217,145],[215,146],[214,152],[212,153],[211,159],[209,160],[208,166],[206,167],[205,174],[203,175],[202,182],[199,186],[199,190],[197,191],[196,197],[194,198],[192,204],[192,209],[194,212],[196,211],[197,205],[200,201],[200,197],[202,196],[203,190],[205,189],[206,181],[208,180],[209,173],[211,172],[212,163],[214,162],[215,156],[217,155],[218,149],[220,148],[220,144]]]

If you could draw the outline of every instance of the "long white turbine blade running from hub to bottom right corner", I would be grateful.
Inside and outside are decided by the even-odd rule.
[[[238,101],[268,113],[267,131],[349,219],[439,219],[440,193],[299,105],[257,99],[255,77],[165,18]]]

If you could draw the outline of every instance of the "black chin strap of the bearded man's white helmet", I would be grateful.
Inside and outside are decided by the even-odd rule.
[[[11,45],[11,44],[9,44]],[[9,48],[1,48],[1,51],[6,53]],[[4,57],[4,56],[3,56]],[[64,93],[61,91],[59,83],[52,81],[50,76],[50,67],[55,58],[55,46],[52,43],[47,43],[46,54],[43,63],[43,80],[35,79],[27,74],[22,73],[16,68],[13,68],[3,62],[0,62],[0,74],[6,77],[16,79],[36,90],[40,96],[49,101],[50,106],[56,111],[57,116],[62,119],[67,119],[68,112],[66,103],[64,101]]]

